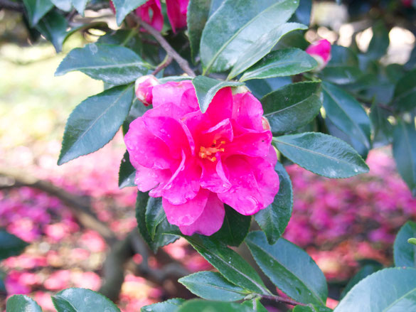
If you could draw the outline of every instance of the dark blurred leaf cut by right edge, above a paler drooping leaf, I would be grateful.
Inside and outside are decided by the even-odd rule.
[[[407,72],[398,81],[394,104],[400,112],[410,112],[416,107],[416,70]]]

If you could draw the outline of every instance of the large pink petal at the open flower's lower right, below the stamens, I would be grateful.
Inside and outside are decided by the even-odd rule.
[[[255,173],[245,156],[230,156],[224,161],[228,180],[233,185],[218,198],[242,215],[253,215],[265,208]]]

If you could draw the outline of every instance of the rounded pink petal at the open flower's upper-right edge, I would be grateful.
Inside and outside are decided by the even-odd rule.
[[[250,92],[233,95],[233,119],[240,127],[262,131],[262,104]]]

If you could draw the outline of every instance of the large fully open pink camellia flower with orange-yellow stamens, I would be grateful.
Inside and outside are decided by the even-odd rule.
[[[151,92],[153,108],[130,124],[124,141],[137,187],[162,198],[169,222],[185,235],[212,235],[223,224],[224,203],[242,215],[272,203],[277,154],[250,92],[225,87],[204,114],[189,80]]]

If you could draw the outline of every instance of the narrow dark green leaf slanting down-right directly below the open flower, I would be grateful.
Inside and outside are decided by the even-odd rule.
[[[269,294],[262,279],[250,264],[235,252],[217,240],[204,236],[185,237],[202,257],[223,274],[225,279],[248,291]]]

